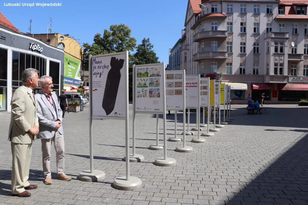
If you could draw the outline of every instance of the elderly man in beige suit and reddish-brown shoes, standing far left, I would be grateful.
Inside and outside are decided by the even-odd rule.
[[[39,71],[28,68],[22,72],[23,85],[15,90],[11,106],[9,140],[12,149],[12,194],[28,197],[26,191],[37,188],[28,182],[32,140],[39,133],[39,119],[33,90],[39,86]]]

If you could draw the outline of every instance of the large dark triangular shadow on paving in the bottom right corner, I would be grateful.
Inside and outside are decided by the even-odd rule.
[[[240,193],[229,197],[227,204],[308,204],[307,144],[308,134],[255,179],[246,182],[244,188],[239,188]],[[237,180],[232,180],[233,188],[239,187],[241,179]]]

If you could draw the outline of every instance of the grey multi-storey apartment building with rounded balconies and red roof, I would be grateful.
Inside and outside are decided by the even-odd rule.
[[[201,4],[201,5],[199,5]],[[181,69],[268,103],[308,97],[308,0],[189,0]],[[183,56],[186,56],[186,61]]]

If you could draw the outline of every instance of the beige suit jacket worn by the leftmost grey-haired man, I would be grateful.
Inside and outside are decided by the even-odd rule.
[[[39,126],[35,99],[25,85],[15,90],[11,101],[11,122],[9,140],[18,144],[31,144],[34,136],[28,132],[34,125]]]

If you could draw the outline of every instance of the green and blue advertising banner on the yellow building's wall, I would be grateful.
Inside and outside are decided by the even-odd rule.
[[[81,61],[64,54],[64,69],[63,69],[63,81],[64,86],[81,85],[80,78],[80,66]]]

